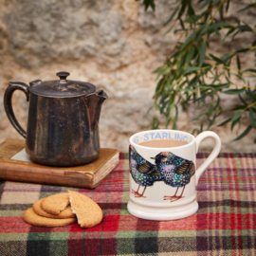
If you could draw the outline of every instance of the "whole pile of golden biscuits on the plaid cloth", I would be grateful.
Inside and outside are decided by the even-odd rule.
[[[90,197],[68,191],[37,200],[24,212],[23,219],[41,227],[61,227],[78,222],[81,228],[91,228],[101,223],[102,210]]]

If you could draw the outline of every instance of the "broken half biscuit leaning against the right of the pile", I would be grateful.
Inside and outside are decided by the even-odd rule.
[[[91,228],[101,222],[102,210],[95,201],[80,192],[68,193],[71,209],[77,215],[81,228]]]

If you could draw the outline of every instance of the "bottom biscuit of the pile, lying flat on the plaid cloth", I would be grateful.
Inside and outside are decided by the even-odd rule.
[[[40,215],[37,215],[32,208],[25,210],[23,214],[23,219],[31,225],[41,227],[61,227],[73,224],[77,221],[77,219],[75,218],[51,219],[42,217]]]

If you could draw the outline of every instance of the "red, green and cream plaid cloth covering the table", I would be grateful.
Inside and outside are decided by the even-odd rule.
[[[197,166],[207,155],[198,154]],[[127,211],[128,155],[94,190],[0,181],[0,255],[256,255],[256,154],[221,154],[201,176],[199,210],[156,222]],[[40,228],[24,210],[47,195],[82,192],[103,210],[100,225]]]

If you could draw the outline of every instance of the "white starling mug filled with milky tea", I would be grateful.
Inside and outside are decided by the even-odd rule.
[[[200,142],[211,137],[214,147],[196,169]],[[142,219],[175,220],[198,210],[196,186],[199,177],[219,154],[221,140],[207,131],[193,137],[176,130],[150,130],[130,137],[129,212]]]

